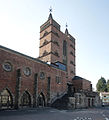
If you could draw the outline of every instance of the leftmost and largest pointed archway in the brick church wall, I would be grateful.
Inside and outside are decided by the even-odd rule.
[[[12,108],[12,106],[13,106],[12,95],[8,89],[4,89],[0,93],[0,108],[7,109]]]

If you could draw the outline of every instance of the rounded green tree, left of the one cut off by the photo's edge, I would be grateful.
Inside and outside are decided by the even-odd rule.
[[[98,80],[98,83],[96,85],[97,91],[98,92],[106,92],[107,91],[107,85],[106,85],[106,80],[105,78],[101,77]]]

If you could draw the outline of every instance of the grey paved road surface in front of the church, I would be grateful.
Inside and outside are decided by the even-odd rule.
[[[109,107],[76,110],[54,108],[2,110],[0,120],[109,120]]]

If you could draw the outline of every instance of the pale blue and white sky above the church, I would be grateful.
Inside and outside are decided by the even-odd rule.
[[[76,75],[109,79],[109,0],[0,0],[0,45],[37,58],[40,26],[53,19],[76,39]]]

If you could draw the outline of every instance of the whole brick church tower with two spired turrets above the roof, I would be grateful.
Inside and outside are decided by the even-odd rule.
[[[75,75],[75,39],[67,28],[65,33],[60,31],[60,25],[51,13],[40,27],[39,59],[50,64],[64,65],[68,78]]]

